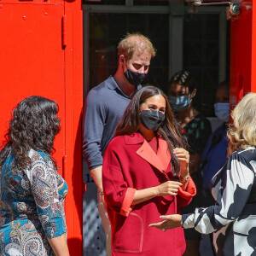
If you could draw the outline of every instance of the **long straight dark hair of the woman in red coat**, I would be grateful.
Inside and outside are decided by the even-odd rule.
[[[119,121],[115,135],[130,135],[138,131],[141,105],[143,102],[146,102],[148,98],[157,95],[163,96],[166,100],[166,118],[160,125],[158,132],[168,144],[170,154],[172,155],[171,163],[173,167],[173,174],[177,176],[180,166],[176,155],[173,154],[173,149],[177,147],[183,148],[184,142],[180,137],[177,121],[172,116],[172,110],[170,108],[167,97],[159,88],[148,85],[140,90],[137,90],[137,93],[132,97],[130,104],[126,108],[124,115]]]

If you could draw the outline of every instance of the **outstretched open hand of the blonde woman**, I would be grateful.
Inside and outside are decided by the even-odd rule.
[[[164,219],[162,222],[149,224],[148,227],[153,227],[159,230],[172,230],[177,227],[181,227],[181,219],[182,216],[179,214],[172,214],[172,215],[163,215],[160,216],[161,219]]]

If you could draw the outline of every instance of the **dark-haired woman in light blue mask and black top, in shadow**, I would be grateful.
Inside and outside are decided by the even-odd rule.
[[[197,194],[188,207],[182,208],[182,212],[191,212],[195,207],[202,205],[202,181],[200,172],[201,154],[212,133],[210,121],[201,114],[193,105],[196,95],[195,81],[188,71],[180,71],[172,76],[169,83],[169,102],[179,125],[183,137],[189,144],[189,173],[193,178]],[[198,256],[201,234],[195,230],[184,230],[186,238],[186,252],[184,256]]]

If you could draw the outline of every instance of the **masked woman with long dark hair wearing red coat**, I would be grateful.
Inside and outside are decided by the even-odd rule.
[[[114,256],[179,256],[182,228],[156,230],[160,215],[180,212],[195,195],[166,95],[146,86],[133,96],[104,154],[102,181]]]

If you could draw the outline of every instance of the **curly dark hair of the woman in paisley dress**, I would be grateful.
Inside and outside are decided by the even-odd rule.
[[[9,130],[0,151],[0,166],[9,154],[14,154],[15,164],[26,168],[31,165],[28,152],[32,148],[48,154],[55,152],[54,139],[60,131],[59,107],[42,96],[30,96],[21,101],[13,111]]]

